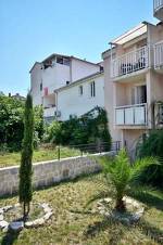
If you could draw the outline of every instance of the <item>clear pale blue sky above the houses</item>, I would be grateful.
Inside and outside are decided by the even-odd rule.
[[[0,91],[25,95],[33,64],[52,53],[99,62],[142,21],[156,22],[153,0],[0,0]]]

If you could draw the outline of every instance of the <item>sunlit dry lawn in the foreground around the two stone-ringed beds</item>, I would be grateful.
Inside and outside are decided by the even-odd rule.
[[[0,233],[0,244],[14,245],[154,245],[163,243],[163,193],[137,196],[145,204],[142,220],[127,227],[104,220],[100,215],[83,212],[96,193],[98,175],[80,178],[34,193],[35,202],[48,202],[54,215],[45,227],[24,229],[20,235]],[[100,189],[100,186],[98,186]],[[17,197],[0,199],[0,206],[16,203]],[[92,206],[93,207],[93,204]],[[152,238],[153,237],[153,238]],[[161,242],[162,237],[162,242]],[[160,242],[159,242],[160,240]]]

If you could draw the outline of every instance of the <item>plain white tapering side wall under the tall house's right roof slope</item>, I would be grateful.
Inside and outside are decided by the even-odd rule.
[[[100,66],[77,59],[72,59],[72,81],[100,72]]]

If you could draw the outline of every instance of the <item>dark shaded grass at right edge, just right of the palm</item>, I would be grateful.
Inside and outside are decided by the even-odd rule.
[[[152,192],[147,193],[138,193],[138,194],[130,194],[129,195],[139,202],[146,204],[149,207],[154,207],[161,211],[163,211],[163,196],[158,196],[152,194]]]

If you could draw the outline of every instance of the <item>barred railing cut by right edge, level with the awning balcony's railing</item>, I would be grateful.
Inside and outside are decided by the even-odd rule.
[[[154,67],[155,69],[163,66],[163,41],[154,46]]]

